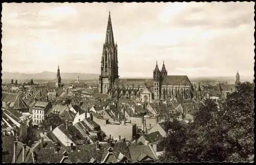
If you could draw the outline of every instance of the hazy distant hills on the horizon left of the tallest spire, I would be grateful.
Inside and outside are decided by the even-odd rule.
[[[41,72],[41,73],[11,73],[2,71],[2,79],[18,79],[25,80],[31,79],[45,79],[52,80],[55,79],[55,72]],[[88,79],[94,80],[99,78],[99,74],[88,74],[88,73],[60,73],[61,79],[76,79],[79,76],[79,79]]]

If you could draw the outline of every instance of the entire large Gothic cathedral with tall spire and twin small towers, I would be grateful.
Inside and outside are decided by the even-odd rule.
[[[163,62],[153,71],[153,78],[119,78],[117,43],[109,13],[105,43],[101,57],[99,93],[109,93],[112,97],[138,97],[142,102],[159,102],[166,98],[193,98],[193,85],[186,75],[168,75]]]

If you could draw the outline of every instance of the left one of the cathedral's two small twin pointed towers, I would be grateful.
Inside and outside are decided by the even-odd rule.
[[[161,72],[160,72],[157,64],[156,64],[155,70],[153,71],[153,77],[154,77],[154,99],[159,100],[160,99]]]

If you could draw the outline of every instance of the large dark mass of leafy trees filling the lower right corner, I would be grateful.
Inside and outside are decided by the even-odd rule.
[[[254,84],[244,82],[225,101],[206,100],[183,134],[167,137],[160,158],[174,161],[253,161]],[[176,124],[177,125],[177,124]],[[180,131],[179,131],[180,132]]]

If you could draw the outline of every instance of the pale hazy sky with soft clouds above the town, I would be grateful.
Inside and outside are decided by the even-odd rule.
[[[253,77],[254,3],[4,3],[3,71],[100,73],[111,11],[120,76]]]

